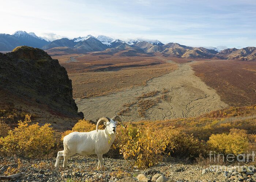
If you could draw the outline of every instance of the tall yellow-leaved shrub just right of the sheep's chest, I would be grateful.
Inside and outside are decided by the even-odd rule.
[[[153,166],[162,160],[161,154],[165,151],[168,141],[154,138],[149,130],[138,129],[135,136],[129,130],[131,128],[128,128],[127,142],[118,145],[124,159],[135,161],[134,164],[140,168]]]

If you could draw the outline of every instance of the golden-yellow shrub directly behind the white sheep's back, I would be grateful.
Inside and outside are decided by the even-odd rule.
[[[80,119],[75,126],[72,128],[72,130],[67,130],[61,134],[61,139],[68,135],[71,132],[78,131],[78,132],[89,132],[96,129],[96,124],[90,123],[90,121],[85,119]],[[99,125],[99,130],[103,130],[103,126]]]

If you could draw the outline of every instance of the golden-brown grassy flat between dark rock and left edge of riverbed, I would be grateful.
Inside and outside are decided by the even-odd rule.
[[[148,80],[167,74],[176,68],[174,64],[165,63],[123,68],[119,71],[68,73],[68,76],[72,80],[74,98],[90,98],[144,86]]]

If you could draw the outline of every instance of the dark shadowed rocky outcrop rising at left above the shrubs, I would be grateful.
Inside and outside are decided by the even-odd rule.
[[[0,88],[65,115],[78,115],[72,82],[58,60],[27,46],[0,53]]]

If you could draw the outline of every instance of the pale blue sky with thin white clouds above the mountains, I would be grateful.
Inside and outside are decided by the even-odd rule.
[[[0,0],[0,33],[256,47],[255,0]]]

